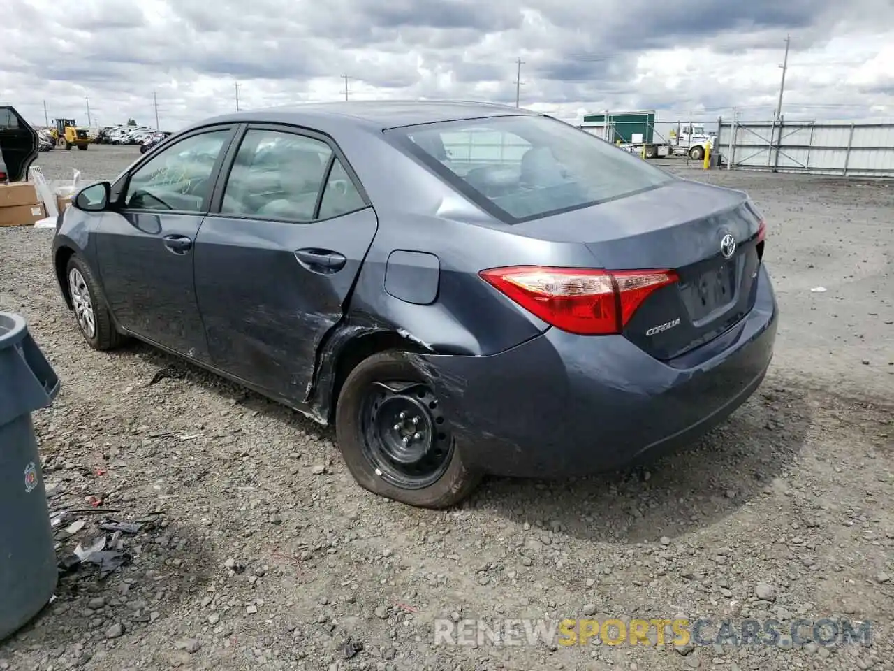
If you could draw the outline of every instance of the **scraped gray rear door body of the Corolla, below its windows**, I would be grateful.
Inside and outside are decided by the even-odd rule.
[[[291,403],[306,400],[316,350],[343,305],[375,236],[371,208],[313,224],[206,217],[195,251],[196,293],[217,368]],[[295,251],[337,251],[330,275]]]

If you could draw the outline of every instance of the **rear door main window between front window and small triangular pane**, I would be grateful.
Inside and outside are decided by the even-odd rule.
[[[332,153],[324,141],[304,135],[249,130],[223,190],[221,213],[312,221]]]

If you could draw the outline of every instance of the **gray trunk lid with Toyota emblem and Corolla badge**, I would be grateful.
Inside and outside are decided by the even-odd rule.
[[[515,225],[513,232],[581,242],[594,268],[677,271],[679,282],[650,294],[623,332],[666,361],[721,335],[751,310],[763,255],[760,221],[743,191],[679,180]]]

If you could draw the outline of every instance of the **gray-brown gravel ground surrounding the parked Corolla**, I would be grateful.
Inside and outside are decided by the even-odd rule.
[[[136,156],[39,165],[93,180]],[[648,471],[491,479],[437,513],[358,488],[332,433],[275,403],[143,345],[89,350],[51,233],[0,229],[0,310],[30,320],[63,380],[34,415],[51,507],[97,497],[154,520],[105,581],[64,576],[0,669],[894,669],[891,184],[682,170],[746,189],[767,217],[782,316],[762,388]],[[871,620],[873,645],[433,645],[435,618],[580,616],[844,617]]]

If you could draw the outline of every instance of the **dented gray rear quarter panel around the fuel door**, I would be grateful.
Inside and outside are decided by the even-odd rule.
[[[354,131],[357,133],[358,131]],[[502,352],[543,333],[549,325],[487,285],[478,272],[517,264],[561,263],[588,267],[593,257],[571,242],[543,242],[515,234],[418,162],[404,154],[387,133],[353,137],[344,146],[351,166],[375,208],[379,227],[346,310],[349,317],[403,332],[433,352],[487,355]],[[361,150],[362,149],[362,150]],[[387,171],[382,166],[387,165]],[[430,264],[388,277],[395,251],[437,258],[437,292],[426,304],[405,298],[417,294],[413,277],[431,272]],[[412,255],[403,261],[411,263]],[[405,268],[405,270],[408,270]],[[395,276],[409,283],[395,283]]]

